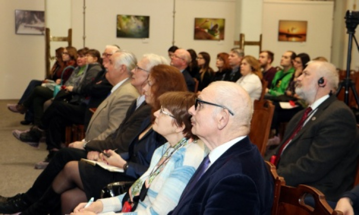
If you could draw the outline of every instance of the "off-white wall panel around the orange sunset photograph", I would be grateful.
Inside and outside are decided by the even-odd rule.
[[[274,66],[287,50],[309,54],[311,58],[330,59],[332,42],[333,2],[264,0],[263,49],[275,53]],[[279,42],[279,20],[308,21],[306,42]]]

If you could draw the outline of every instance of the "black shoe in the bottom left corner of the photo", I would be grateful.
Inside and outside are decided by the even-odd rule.
[[[7,198],[6,202],[0,202],[0,213],[12,214],[27,209],[32,203],[25,199],[24,193],[19,193],[13,197]]]

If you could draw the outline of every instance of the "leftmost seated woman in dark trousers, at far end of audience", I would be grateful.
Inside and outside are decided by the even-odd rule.
[[[27,88],[25,89],[23,95],[21,96],[18,104],[8,104],[8,109],[17,112],[16,106],[24,103],[24,101],[30,96],[31,92],[34,90],[35,87],[41,86],[42,83],[46,83],[47,80],[52,80],[56,82],[57,79],[61,79],[61,73],[63,69],[65,68],[65,63],[62,61],[62,52],[64,51],[63,47],[60,47],[55,50],[55,57],[56,61],[54,65],[52,66],[50,70],[50,74],[48,74],[48,77],[43,80],[31,80]],[[60,76],[58,76],[60,75]],[[29,108],[29,110],[25,113],[25,119],[21,121],[20,123],[22,125],[30,125],[34,122],[34,111],[32,110],[32,107]]]

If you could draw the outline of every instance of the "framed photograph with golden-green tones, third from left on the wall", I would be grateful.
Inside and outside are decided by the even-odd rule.
[[[224,40],[225,19],[194,18],[195,40]]]

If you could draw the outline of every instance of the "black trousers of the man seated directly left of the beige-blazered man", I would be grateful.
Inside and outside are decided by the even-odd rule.
[[[56,100],[52,102],[42,119],[48,150],[60,148],[67,125],[83,124],[86,107],[86,104],[75,105]]]

